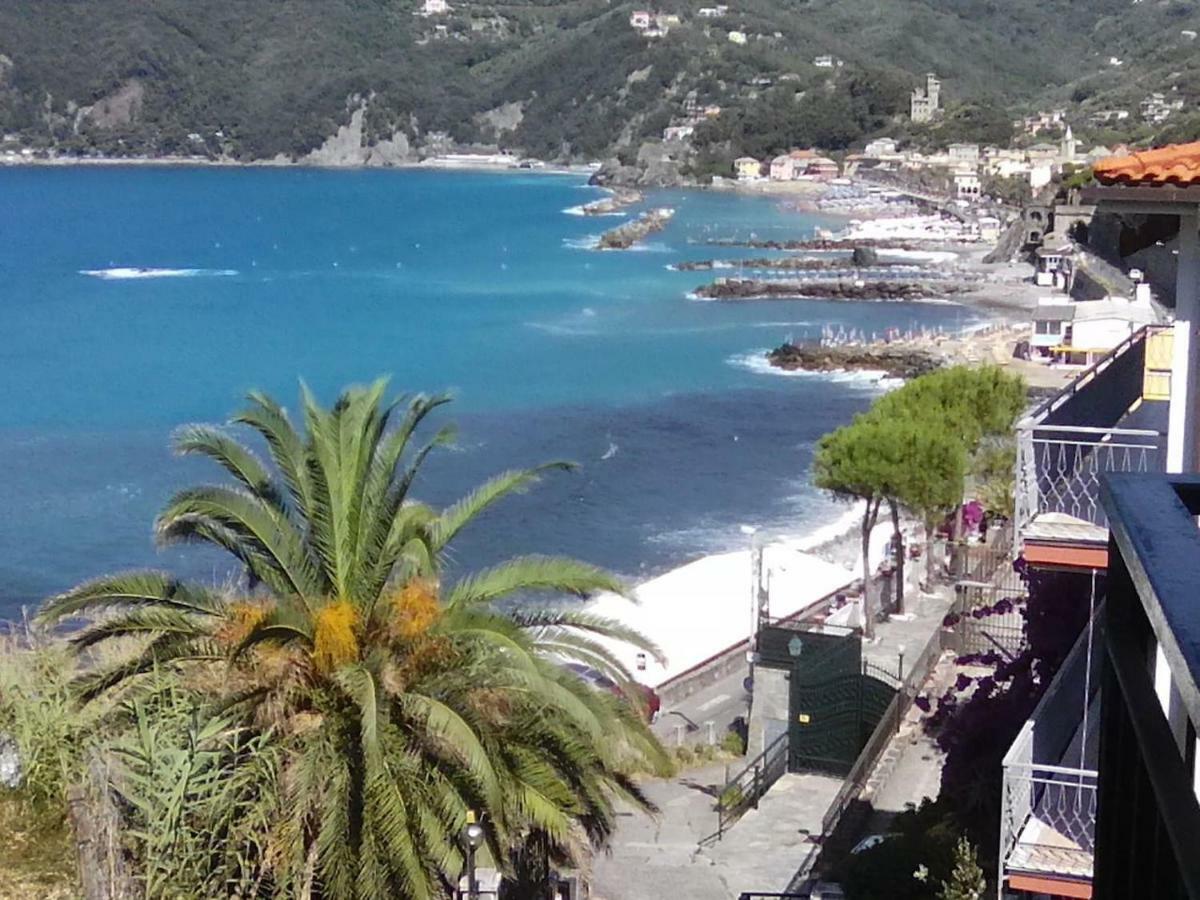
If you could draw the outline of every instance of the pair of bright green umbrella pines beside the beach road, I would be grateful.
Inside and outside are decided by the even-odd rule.
[[[1006,436],[1025,402],[1019,378],[995,366],[956,366],[916,378],[877,400],[817,444],[812,480],[835,497],[864,504],[860,526],[864,632],[875,629],[870,595],[871,530],[888,503],[918,515],[932,541],[936,524],[962,500],[968,460],[985,438]],[[926,546],[926,580],[934,577]]]

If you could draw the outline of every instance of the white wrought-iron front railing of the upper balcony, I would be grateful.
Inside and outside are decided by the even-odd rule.
[[[1031,425],[1016,436],[1016,532],[1045,512],[1108,528],[1100,476],[1162,472],[1162,434],[1140,428]]]

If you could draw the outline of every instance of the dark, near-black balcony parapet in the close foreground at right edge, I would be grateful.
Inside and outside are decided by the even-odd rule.
[[[1112,475],[1097,900],[1200,900],[1200,476]]]

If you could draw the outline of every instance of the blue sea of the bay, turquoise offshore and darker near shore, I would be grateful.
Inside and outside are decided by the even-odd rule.
[[[156,511],[218,479],[174,458],[173,428],[223,421],[248,390],[295,407],[390,376],[451,390],[458,445],[418,492],[449,502],[500,469],[580,463],[496,509],[463,569],[568,553],[644,577],[803,534],[838,509],[811,450],[864,409],[864,378],[785,376],[762,353],[823,326],[970,324],[952,305],[703,302],[685,259],[710,238],[834,224],[764,198],[664,192],[670,227],[589,250],[616,217],[580,176],[445,172],[0,169],[0,618],[101,574],[227,562],[160,551]],[[758,254],[754,252],[754,254]],[[719,272],[718,272],[719,274]]]

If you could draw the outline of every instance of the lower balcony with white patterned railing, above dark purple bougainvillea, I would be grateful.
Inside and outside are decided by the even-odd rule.
[[[1102,648],[1099,625],[1085,629],[1004,756],[1000,876],[1013,890],[1091,896]]]

